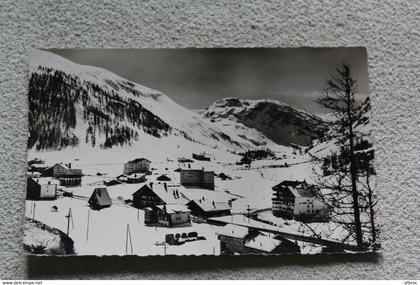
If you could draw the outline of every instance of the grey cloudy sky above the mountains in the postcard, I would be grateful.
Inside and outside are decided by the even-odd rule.
[[[51,49],[79,64],[103,67],[159,90],[188,109],[221,98],[275,99],[311,113],[336,67],[351,66],[360,96],[369,93],[366,49]]]

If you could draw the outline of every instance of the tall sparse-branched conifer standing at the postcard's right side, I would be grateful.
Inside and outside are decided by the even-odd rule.
[[[356,80],[351,74],[350,66],[342,64],[327,81],[327,88],[317,100],[321,106],[333,111],[337,118],[331,123],[330,135],[339,146],[339,152],[329,158],[331,175],[325,177],[322,174],[324,177],[319,180],[324,188],[332,190],[331,205],[340,208],[334,213],[338,216],[336,221],[347,227],[355,236],[357,247],[362,250],[363,233],[360,220],[360,190],[357,184],[358,166],[354,129],[359,114],[359,105],[355,101],[356,89]],[[352,216],[351,220],[347,218],[349,216]]]

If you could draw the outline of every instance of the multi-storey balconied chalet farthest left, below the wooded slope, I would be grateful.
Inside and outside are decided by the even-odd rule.
[[[71,163],[56,163],[43,171],[42,176],[57,178],[61,186],[77,187],[82,184],[83,173],[81,169],[71,168]]]

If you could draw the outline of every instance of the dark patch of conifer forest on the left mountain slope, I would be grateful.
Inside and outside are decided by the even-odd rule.
[[[129,86],[124,89],[134,90]],[[134,95],[141,95],[137,93]],[[84,138],[74,133],[76,125],[80,128],[82,123],[77,121],[80,116],[76,116],[76,109],[83,113]],[[77,146],[81,139],[92,146],[109,148],[138,140],[138,129],[155,137],[171,131],[168,124],[140,103],[122,98],[113,89],[51,68],[38,67],[38,72],[32,73],[28,148],[61,149]]]

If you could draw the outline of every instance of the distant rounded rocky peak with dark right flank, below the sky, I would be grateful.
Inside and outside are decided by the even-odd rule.
[[[308,145],[325,131],[321,118],[276,100],[224,98],[211,105],[202,116],[225,128],[254,129],[285,146],[290,143]],[[246,133],[243,136],[249,137]]]

